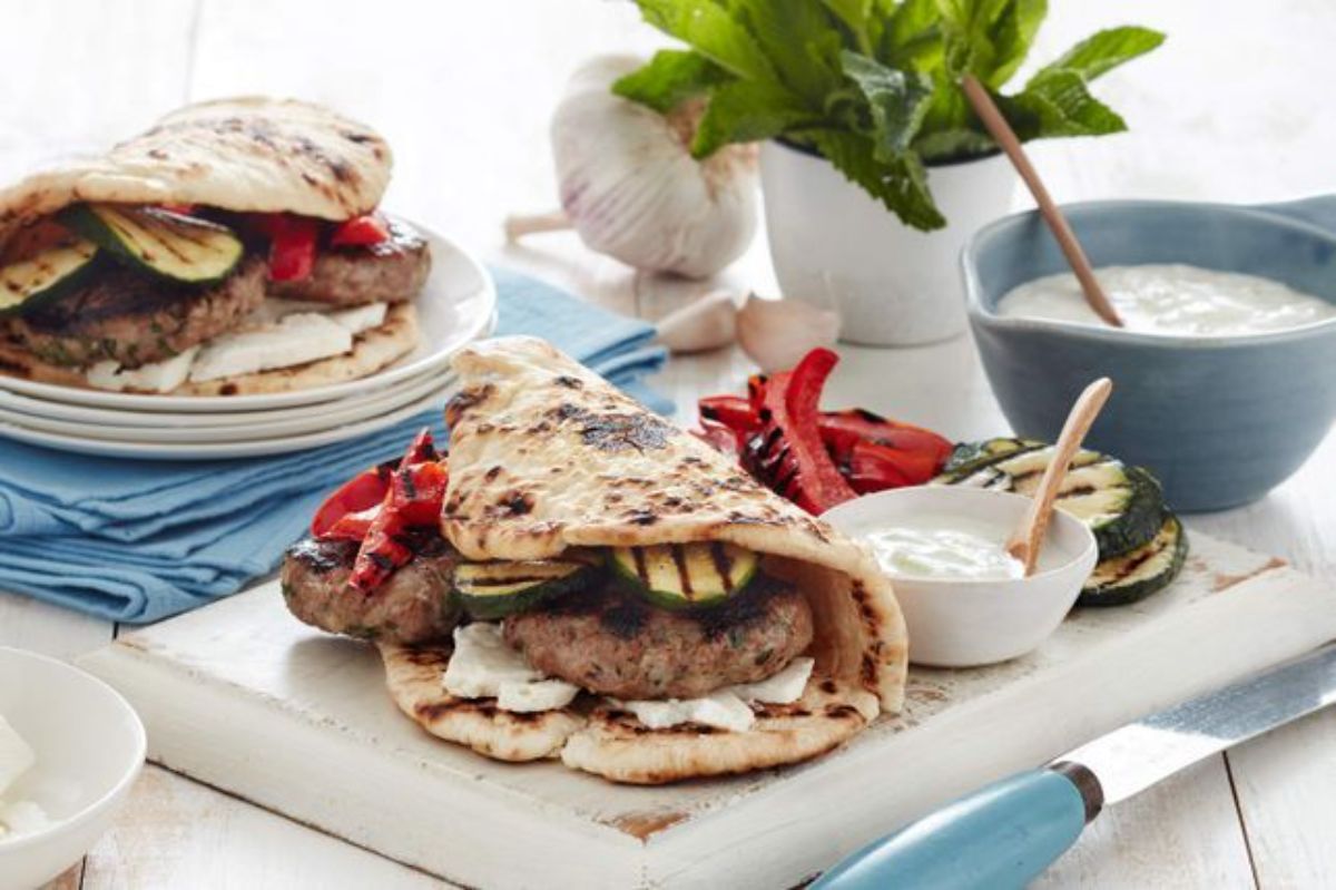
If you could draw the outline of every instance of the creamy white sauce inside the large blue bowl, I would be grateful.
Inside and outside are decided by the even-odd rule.
[[[1126,330],[1178,337],[1237,337],[1316,325],[1336,305],[1269,278],[1184,265],[1106,266],[1096,270]],[[998,301],[998,314],[1078,325],[1106,325],[1071,273],[1026,282]]]

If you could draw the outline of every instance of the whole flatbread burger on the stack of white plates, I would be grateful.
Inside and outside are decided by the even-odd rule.
[[[175,111],[0,191],[0,374],[231,396],[411,351],[426,241],[377,210],[390,150],[321,106]]]

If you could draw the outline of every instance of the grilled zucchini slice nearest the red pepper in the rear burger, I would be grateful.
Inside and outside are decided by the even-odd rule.
[[[244,253],[226,226],[158,207],[75,204],[59,219],[119,259],[187,285],[227,278]]]

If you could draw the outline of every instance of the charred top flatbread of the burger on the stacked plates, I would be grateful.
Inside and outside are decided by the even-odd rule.
[[[0,191],[0,250],[24,223],[77,202],[349,219],[379,203],[390,164],[374,130],[322,106],[263,96],[202,102],[103,155]]]

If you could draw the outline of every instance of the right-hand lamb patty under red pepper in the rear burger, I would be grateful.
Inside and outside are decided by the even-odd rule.
[[[335,306],[413,299],[432,270],[432,251],[411,226],[393,216],[387,222],[390,239],[385,243],[322,250],[310,275],[270,282],[270,295]]]

